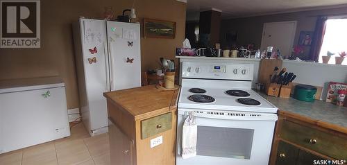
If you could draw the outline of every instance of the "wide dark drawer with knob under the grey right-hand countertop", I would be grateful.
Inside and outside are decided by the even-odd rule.
[[[346,159],[347,137],[291,121],[282,121],[280,138],[335,159]]]

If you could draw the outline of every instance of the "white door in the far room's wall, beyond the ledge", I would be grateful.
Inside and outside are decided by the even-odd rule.
[[[296,21],[264,23],[261,50],[273,46],[273,51],[280,50],[282,57],[289,56],[294,43]]]

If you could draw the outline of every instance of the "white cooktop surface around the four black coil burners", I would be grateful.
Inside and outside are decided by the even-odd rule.
[[[189,89],[192,88],[204,89],[206,92],[202,94],[211,96],[215,101],[212,103],[197,103],[189,100],[189,96],[194,95],[193,92],[189,92]],[[226,93],[226,91],[233,89],[247,92],[250,96],[230,96]],[[260,105],[244,105],[239,103],[239,98],[253,98],[259,101]],[[251,89],[251,82],[198,79],[182,80],[178,108],[264,113],[276,113],[278,110],[277,107],[273,106],[269,101],[266,101],[266,99]]]

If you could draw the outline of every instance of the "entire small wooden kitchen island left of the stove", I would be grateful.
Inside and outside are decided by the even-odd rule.
[[[111,164],[175,164],[178,93],[149,85],[103,94]]]

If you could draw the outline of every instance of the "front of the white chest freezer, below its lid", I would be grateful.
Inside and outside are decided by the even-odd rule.
[[[0,94],[0,105],[0,153],[70,135],[65,87]]]

